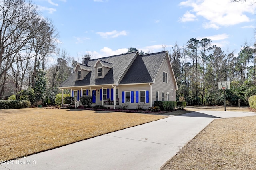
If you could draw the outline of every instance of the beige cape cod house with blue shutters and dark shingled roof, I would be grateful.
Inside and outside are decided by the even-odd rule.
[[[91,95],[93,105],[116,108],[126,104],[127,109],[154,101],[175,101],[178,89],[168,51],[140,55],[138,51],[99,59],[84,59],[59,87],[70,89],[80,105],[82,95]]]

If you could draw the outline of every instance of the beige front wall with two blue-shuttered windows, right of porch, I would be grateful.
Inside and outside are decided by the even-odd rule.
[[[136,109],[136,106],[140,103],[136,103],[136,91],[149,91],[149,103],[143,103],[145,107],[143,109],[148,109],[150,107],[150,86],[149,84],[143,84],[143,85],[122,85],[119,86],[119,105],[122,106],[122,91],[134,91],[134,103],[127,103],[128,108],[127,109]]]

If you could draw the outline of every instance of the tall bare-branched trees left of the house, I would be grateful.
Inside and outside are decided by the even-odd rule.
[[[57,48],[57,38],[54,25],[36,5],[0,2],[0,99],[13,88],[16,99],[54,101],[57,87],[72,72],[72,59]]]

